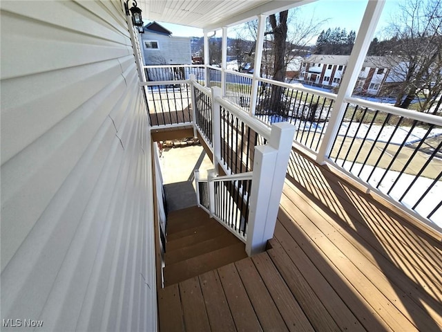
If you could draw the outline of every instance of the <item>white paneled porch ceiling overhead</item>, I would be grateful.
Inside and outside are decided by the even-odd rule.
[[[162,21],[210,32],[316,0],[139,0],[144,21]]]

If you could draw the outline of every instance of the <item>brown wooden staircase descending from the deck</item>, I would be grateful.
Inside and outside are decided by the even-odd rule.
[[[169,213],[166,239],[164,287],[247,257],[244,243],[196,206]]]

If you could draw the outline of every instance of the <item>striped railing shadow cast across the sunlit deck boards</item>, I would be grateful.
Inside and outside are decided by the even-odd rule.
[[[338,232],[352,238],[355,250],[381,270],[401,302],[395,305],[402,312],[405,308],[417,329],[440,331],[440,322],[432,319],[442,312],[442,286],[437,275],[442,272],[440,243],[293,150],[287,180],[325,211],[338,225]],[[392,278],[393,274],[397,278]]]

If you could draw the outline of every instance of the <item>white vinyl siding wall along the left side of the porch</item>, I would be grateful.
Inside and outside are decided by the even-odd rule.
[[[0,6],[0,319],[155,331],[151,142],[122,3]]]

